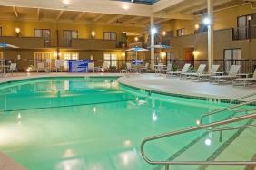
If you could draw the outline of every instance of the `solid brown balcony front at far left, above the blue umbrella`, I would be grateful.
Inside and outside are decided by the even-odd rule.
[[[0,42],[12,44],[21,49],[44,48],[44,38],[2,36]]]

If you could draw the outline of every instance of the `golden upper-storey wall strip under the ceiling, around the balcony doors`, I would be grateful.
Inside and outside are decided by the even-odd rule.
[[[95,39],[103,39],[103,32],[116,32],[117,42],[121,41],[121,33],[136,32],[143,33],[145,28],[122,25],[100,25],[100,24],[71,24],[71,23],[50,23],[50,22],[26,22],[26,21],[7,21],[0,20],[3,36],[15,36],[15,28],[21,29],[21,36],[34,37],[34,29],[50,29],[51,44],[56,46],[56,31],[59,31],[60,46],[63,46],[63,31],[77,30],[78,38],[90,39],[94,31]]]

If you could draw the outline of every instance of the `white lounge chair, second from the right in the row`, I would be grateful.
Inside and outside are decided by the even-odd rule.
[[[220,84],[220,82],[227,82],[229,80],[234,80],[237,78],[237,74],[240,68],[241,68],[241,65],[232,65],[228,75],[211,76],[210,83],[216,82]]]

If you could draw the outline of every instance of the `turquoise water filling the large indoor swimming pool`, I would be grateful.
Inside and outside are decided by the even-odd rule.
[[[148,96],[119,85],[115,78],[5,83],[0,85],[0,151],[30,170],[161,169],[143,161],[140,144],[144,137],[195,126],[202,114],[226,106],[206,100]],[[209,148],[204,141],[210,136],[203,133],[153,142],[146,146],[147,154],[157,160],[170,156],[205,160],[221,144]],[[227,132],[223,140],[232,133]],[[177,154],[195,141],[206,152],[200,156]]]

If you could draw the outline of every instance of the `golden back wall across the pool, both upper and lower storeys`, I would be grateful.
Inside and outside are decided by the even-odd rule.
[[[21,37],[25,37],[25,41],[19,40],[20,38],[14,38],[12,42],[15,42],[17,46],[25,46],[25,48],[20,48],[17,50],[8,50],[6,55],[8,59],[16,59],[17,55],[21,56],[22,61],[18,63],[18,69],[24,71],[27,66],[34,65],[33,61],[24,61],[25,59],[34,59],[34,52],[51,52],[52,59],[54,59],[54,53],[56,52],[56,30],[59,31],[59,44],[61,47],[60,52],[79,52],[80,59],[90,59],[93,56],[94,60],[103,60],[103,53],[115,53],[117,58],[123,60],[122,52],[123,49],[116,48],[115,43],[122,41],[121,33],[123,32],[136,32],[143,33],[145,28],[142,27],[132,27],[132,26],[111,26],[111,25],[100,25],[100,24],[70,24],[70,23],[50,23],[50,22],[30,22],[30,21],[8,21],[0,20],[0,27],[2,27],[2,35],[0,37],[0,42],[8,40],[10,37],[15,37],[15,28],[19,27],[21,29]],[[51,30],[51,47],[44,48],[43,43],[40,43],[40,38],[34,38],[34,29],[50,29]],[[83,44],[90,42],[83,42],[84,39],[91,39],[91,32],[95,32],[95,46],[93,49],[82,48],[79,42],[76,42],[76,46],[72,48],[64,48],[63,30],[77,30],[78,40],[82,41]],[[116,32],[117,41],[103,41],[103,32]],[[102,41],[100,41],[102,40]],[[134,38],[131,38],[129,42],[133,42]],[[43,39],[42,39],[43,41]],[[103,42],[103,43],[102,43]],[[27,43],[27,44],[24,44]],[[38,48],[36,45],[38,43]],[[75,41],[74,41],[75,43]],[[107,44],[112,43],[113,45]],[[41,45],[40,45],[41,44]],[[75,45],[75,44],[74,44]],[[110,46],[110,48],[108,48]],[[31,48],[30,48],[31,47]],[[42,48],[43,47],[43,48]],[[105,47],[105,48],[104,48]],[[95,50],[94,50],[95,49]],[[148,52],[147,52],[148,53]],[[150,58],[147,54],[147,58]],[[98,61],[96,65],[101,65],[103,61]],[[122,65],[119,65],[122,66]]]

